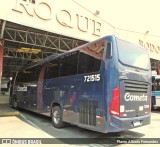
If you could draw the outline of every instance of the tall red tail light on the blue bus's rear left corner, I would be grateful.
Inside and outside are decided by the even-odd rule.
[[[109,113],[118,117],[120,115],[120,88],[115,88],[112,91],[112,101],[109,105]]]

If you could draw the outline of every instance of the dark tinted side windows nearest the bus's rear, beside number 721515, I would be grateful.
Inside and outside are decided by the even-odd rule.
[[[100,70],[101,60],[82,52],[66,54],[48,63],[45,79],[91,73]]]

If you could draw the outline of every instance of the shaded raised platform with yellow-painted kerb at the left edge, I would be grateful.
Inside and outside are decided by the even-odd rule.
[[[9,105],[9,96],[0,95],[0,117],[17,115],[19,115],[19,111],[11,108]]]

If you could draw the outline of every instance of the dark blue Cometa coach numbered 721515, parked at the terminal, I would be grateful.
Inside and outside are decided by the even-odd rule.
[[[148,52],[106,36],[19,70],[10,105],[98,132],[118,132],[150,123]]]

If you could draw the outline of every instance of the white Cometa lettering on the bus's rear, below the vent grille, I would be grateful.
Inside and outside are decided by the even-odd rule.
[[[132,95],[130,93],[126,93],[124,95],[125,101],[147,101],[147,96],[143,95]]]

